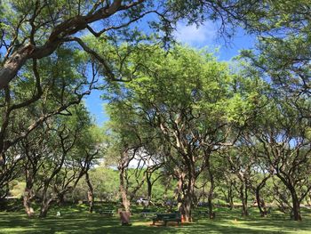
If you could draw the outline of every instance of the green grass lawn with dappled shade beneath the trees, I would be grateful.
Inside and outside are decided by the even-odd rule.
[[[45,219],[28,219],[22,212],[0,213],[0,233],[311,233],[311,211],[304,210],[302,222],[293,222],[276,211],[260,218],[256,208],[251,208],[251,216],[243,218],[240,210],[216,209],[216,219],[208,220],[195,216],[195,222],[168,227],[151,226],[150,219],[132,216],[132,226],[122,227],[118,216],[105,217],[87,214],[84,208],[62,208],[61,216],[52,209]]]

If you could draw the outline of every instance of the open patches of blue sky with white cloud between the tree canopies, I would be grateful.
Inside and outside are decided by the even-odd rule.
[[[188,44],[195,48],[208,47],[211,52],[219,48],[216,54],[219,61],[230,61],[239,54],[242,49],[251,49],[255,43],[255,37],[246,35],[242,28],[236,29],[236,34],[226,44],[223,38],[218,36],[218,26],[216,23],[206,21],[204,25],[196,27],[179,22],[174,36],[182,44]],[[105,101],[100,99],[101,91],[92,91],[90,96],[85,98],[86,107],[89,109],[97,125],[103,125],[108,116],[105,113]]]

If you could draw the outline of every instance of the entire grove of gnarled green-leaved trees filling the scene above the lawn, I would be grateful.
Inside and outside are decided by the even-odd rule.
[[[231,205],[238,191],[243,214],[251,191],[265,215],[272,181],[299,220],[311,189],[310,11],[307,0],[1,1],[0,198],[22,178],[28,215],[38,198],[45,216],[85,176],[92,212],[88,171],[104,153],[126,210],[165,177],[187,221],[207,183],[211,218],[215,190]],[[230,69],[174,44],[179,20],[213,20],[226,40],[242,27],[257,50]],[[109,100],[105,134],[83,103],[94,89]]]

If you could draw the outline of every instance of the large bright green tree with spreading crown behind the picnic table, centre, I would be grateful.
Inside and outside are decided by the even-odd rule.
[[[190,221],[196,178],[208,166],[211,152],[233,144],[238,134],[231,130],[246,121],[247,115],[239,113],[247,113],[253,97],[235,94],[235,77],[207,52],[177,45],[166,54],[156,46],[140,47],[128,65],[136,79],[115,88],[119,97],[112,94],[110,100],[124,103],[121,107],[140,119],[135,123],[150,125],[170,145],[166,152],[179,167],[184,193],[180,210]],[[140,67],[131,66],[137,61]]]

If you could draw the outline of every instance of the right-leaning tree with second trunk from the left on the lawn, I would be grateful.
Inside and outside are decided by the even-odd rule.
[[[44,122],[44,151],[34,148],[41,155],[41,167],[36,169],[36,196],[41,198],[40,217],[45,217],[51,202],[63,201],[64,195],[76,187],[97,154],[96,140],[91,145],[88,113],[82,105],[68,109],[70,116],[53,117]]]

